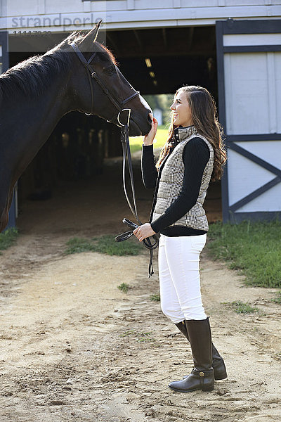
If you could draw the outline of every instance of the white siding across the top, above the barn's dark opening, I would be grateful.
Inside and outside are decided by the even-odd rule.
[[[61,14],[62,25],[58,25]],[[13,33],[41,19],[40,30],[89,29],[103,19],[107,30],[180,25],[215,25],[218,19],[261,19],[281,15],[280,0],[0,0],[0,27]],[[22,16],[22,25],[19,19]],[[43,18],[51,20],[44,26]],[[29,20],[28,20],[29,19]],[[37,20],[37,21],[36,21]],[[65,25],[64,25],[65,23]]]

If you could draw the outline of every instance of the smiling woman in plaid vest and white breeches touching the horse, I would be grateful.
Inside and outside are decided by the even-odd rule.
[[[209,229],[203,203],[209,181],[221,179],[226,151],[214,99],[195,86],[176,91],[168,139],[155,166],[153,139],[157,120],[143,139],[142,173],[155,188],[150,223],[133,231],[141,242],[160,233],[159,285],[162,312],[189,340],[194,369],[169,383],[178,392],[214,390],[227,377],[223,358],[211,343],[209,318],[200,290],[199,261]]]

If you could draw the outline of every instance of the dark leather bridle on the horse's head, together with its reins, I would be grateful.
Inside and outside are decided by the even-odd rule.
[[[72,46],[72,49],[74,49],[74,51],[77,54],[79,60],[84,65],[84,68],[87,71],[89,84],[90,84],[90,87],[91,87],[91,112],[85,113],[85,114],[86,115],[93,115],[94,114],[93,113],[94,112],[93,84],[92,84],[92,81],[91,81],[91,79],[93,79],[93,78],[100,85],[101,89],[103,89],[103,91],[105,92],[107,97],[110,98],[110,101],[114,104],[114,106],[117,108],[117,110],[119,112],[117,115],[112,117],[111,120],[107,120],[107,122],[112,123],[116,119],[116,121],[119,124],[117,124],[116,122],[115,122],[115,124],[117,124],[117,126],[122,128],[122,151],[123,151],[123,166],[122,167],[123,167],[124,193],[125,193],[127,203],[129,205],[129,208],[130,208],[133,216],[136,218],[136,221],[138,222],[138,224],[142,225],[143,223],[138,218],[138,211],[137,211],[137,208],[136,208],[136,192],[135,192],[135,185],[133,183],[133,167],[132,167],[132,162],[131,162],[131,150],[130,150],[130,143],[129,143],[129,122],[130,122],[130,117],[131,117],[131,109],[130,108],[124,108],[124,105],[126,103],[128,103],[129,101],[131,101],[133,98],[135,98],[136,96],[138,96],[140,94],[140,91],[136,91],[132,87],[132,89],[134,91],[133,94],[131,96],[127,97],[125,100],[119,101],[119,98],[117,98],[114,94],[112,94],[112,92],[110,92],[107,89],[107,87],[105,86],[102,79],[100,79],[100,77],[98,76],[96,71],[91,66],[91,62],[92,62],[93,58],[96,56],[97,52],[95,51],[91,55],[89,60],[86,60],[86,58],[84,57],[84,55],[81,53],[81,51],[79,50],[79,48],[77,47],[77,45],[74,42],[72,42],[70,44],[70,46]],[[129,84],[129,82],[126,79],[125,79],[125,81]],[[130,175],[130,181],[131,181],[131,192],[132,192],[132,196],[133,196],[133,205],[131,205],[131,202],[129,200],[129,196],[128,196],[127,191],[126,191],[126,177],[125,177],[126,176],[126,172],[125,172],[125,170],[126,170],[126,157],[127,157],[129,175]],[[133,230],[138,227],[137,224],[131,222],[129,219],[124,218],[123,222],[124,222],[124,224],[127,224],[127,226],[129,226],[129,228],[131,230],[126,231],[123,234],[119,234],[119,236],[116,236],[115,240],[117,242],[126,241],[126,239],[130,238],[133,235]],[[159,239],[157,238],[157,236],[154,235],[154,236],[152,236],[152,238],[154,240],[153,243],[151,243],[150,238],[145,238],[143,240],[143,244],[145,245],[145,248],[148,248],[150,250],[150,264],[149,264],[149,267],[148,267],[149,276],[152,276],[152,274],[154,274],[153,265],[152,265],[153,250],[157,248],[158,243],[159,243]]]

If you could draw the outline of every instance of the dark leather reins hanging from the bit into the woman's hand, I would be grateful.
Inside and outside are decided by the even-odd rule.
[[[127,226],[129,226],[129,228],[131,229],[130,231],[125,231],[125,233],[119,234],[118,236],[115,237],[115,241],[117,242],[122,242],[122,241],[126,241],[127,239],[129,239],[131,236],[133,236],[133,230],[136,229],[138,226],[141,226],[143,223],[141,222],[141,220],[138,218],[138,210],[136,208],[136,192],[135,192],[135,185],[133,183],[133,166],[132,166],[132,162],[131,162],[131,150],[130,150],[130,143],[129,143],[129,120],[130,120],[130,115],[131,115],[131,110],[129,108],[125,108],[124,110],[122,110],[122,112],[119,113],[117,120],[120,123],[120,125],[122,126],[122,152],[123,152],[123,187],[124,187],[124,193],[125,193],[125,197],[127,200],[127,203],[129,205],[129,208],[133,214],[133,217],[135,217],[136,221],[138,222],[138,224],[135,224],[133,222],[131,222],[129,219],[124,218],[122,221],[124,224],[126,224]],[[120,121],[120,118],[125,117],[126,120],[125,123],[122,123]],[[133,205],[131,204],[130,200],[129,200],[129,196],[128,193],[126,191],[126,158],[127,158],[127,162],[128,162],[128,168],[129,168],[129,176],[130,176],[130,183],[131,183],[131,193],[133,196]],[[153,250],[157,248],[158,243],[159,243],[159,239],[157,238],[156,235],[152,236],[153,238],[153,243],[150,241],[150,238],[145,238],[143,240],[143,244],[145,245],[145,248],[148,248],[148,250],[150,251],[150,263],[148,266],[148,274],[150,276],[152,276],[152,274],[154,274],[153,271]]]

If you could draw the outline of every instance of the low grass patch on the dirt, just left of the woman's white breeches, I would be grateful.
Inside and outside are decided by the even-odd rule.
[[[116,242],[114,235],[104,235],[92,239],[72,238],[67,242],[65,254],[80,252],[100,252],[107,255],[138,255],[142,245],[134,238],[124,242]]]

